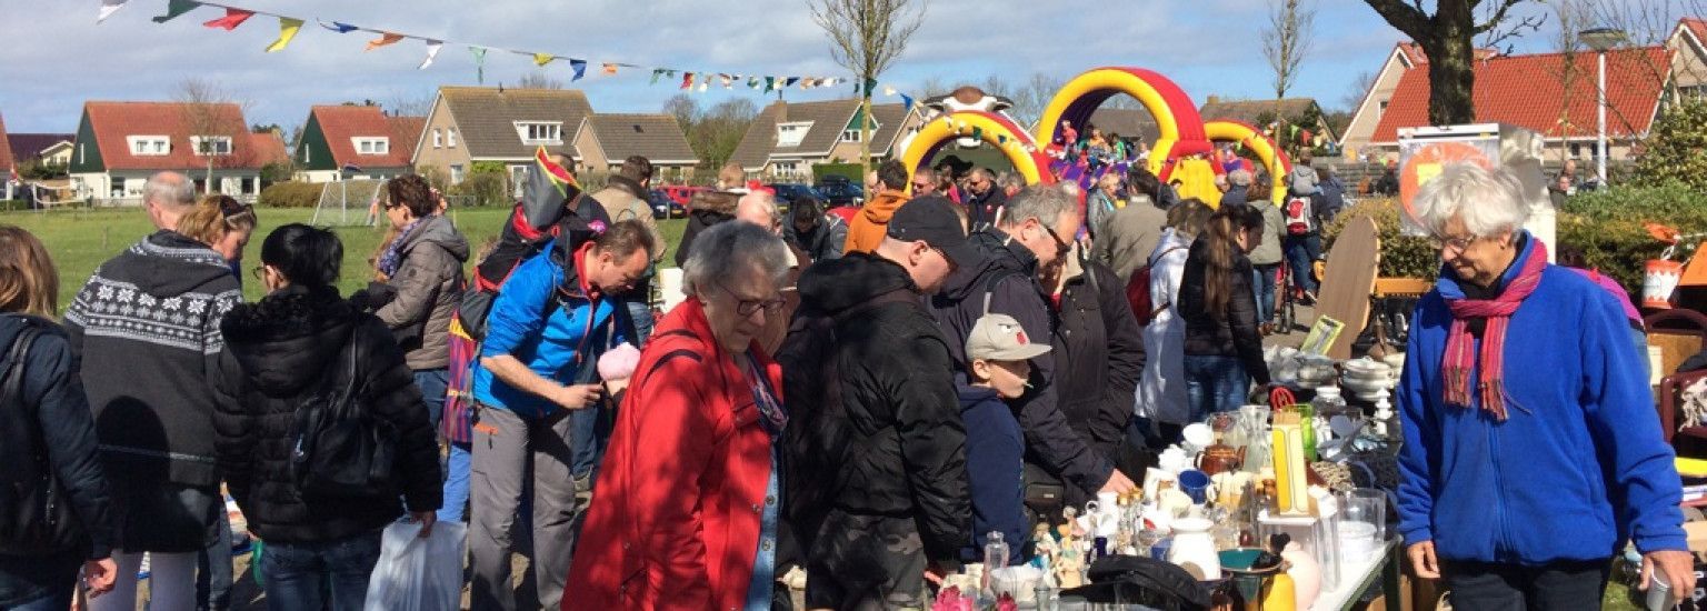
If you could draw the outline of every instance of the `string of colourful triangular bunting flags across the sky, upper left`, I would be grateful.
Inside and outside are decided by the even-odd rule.
[[[119,9],[123,9],[130,2],[131,0],[101,0],[99,10],[97,10],[97,15],[96,15],[96,22],[97,24],[106,22],[108,17],[113,17],[113,14],[116,14]],[[218,19],[207,20],[207,22],[203,22],[203,26],[207,26],[207,27],[217,27],[217,29],[225,29],[225,31],[236,31],[239,26],[242,26],[246,20],[249,20],[254,15],[268,15],[268,17],[278,19],[278,38],[275,38],[266,46],[266,53],[278,53],[278,51],[283,51],[285,48],[288,48],[292,44],[292,41],[297,38],[297,34],[302,32],[302,26],[307,22],[306,19],[300,19],[300,17],[282,15],[282,14],[266,12],[266,10],[256,10],[256,9],[248,9],[248,7],[237,7],[237,5],[225,3],[225,2],[200,2],[200,0],[166,0],[166,12],[160,14],[160,15],[150,17],[150,20],[154,20],[155,24],[164,24],[164,22],[174,20],[178,17],[183,17],[184,14],[189,14],[191,10],[201,9],[201,7],[222,9],[225,12],[225,15],[222,15]],[[374,34],[376,38],[370,39],[370,41],[367,41],[367,44],[364,46],[364,53],[377,49],[381,46],[391,46],[391,44],[401,43],[406,38],[408,39],[418,39],[418,41],[422,41],[422,43],[427,44],[427,58],[420,63],[422,70],[432,67],[432,63],[435,61],[435,58],[439,55],[439,49],[446,44],[446,39],[442,39],[442,38],[428,38],[428,36],[420,36],[420,34],[406,34],[406,32],[398,32],[398,31],[389,31],[389,29],[379,29],[379,27],[362,27],[362,26],[347,24],[347,22],[341,22],[341,20],[314,19],[314,22],[321,29],[329,31],[329,32],[348,34],[348,32],[362,31],[362,32]],[[568,60],[570,70],[574,72],[574,79],[572,80],[582,80],[582,79],[586,79],[587,65],[592,63],[592,60],[574,58],[574,56],[560,55],[560,53],[521,51],[521,49],[509,49],[509,48],[498,48],[498,46],[478,44],[478,43],[463,43],[463,41],[454,41],[454,44],[464,44],[464,46],[468,46],[468,49],[469,49],[469,53],[473,55],[473,60],[475,60],[476,79],[480,82],[485,82],[486,51],[492,51],[492,49],[529,56],[529,58],[533,58],[534,65],[538,65],[538,67],[545,67],[545,65],[548,65],[548,63],[551,63],[555,60]],[[739,84],[743,79],[746,79],[748,87],[751,87],[751,89],[761,89],[761,85],[763,85],[765,92],[780,90],[780,89],[794,87],[794,85],[801,85],[801,89],[831,87],[831,85],[836,85],[836,84],[850,80],[850,79],[842,79],[842,77],[804,77],[804,75],[760,77],[760,75],[741,75],[741,73],[715,72],[715,70],[691,70],[690,72],[690,70],[679,70],[679,68],[659,68],[659,67],[645,67],[645,65],[623,63],[623,61],[599,61],[599,72],[603,75],[616,75],[620,68],[650,70],[650,73],[652,73],[650,84],[657,84],[657,80],[662,79],[662,77],[674,79],[678,73],[681,73],[685,79],[681,80],[681,87],[679,89],[685,89],[685,90],[698,89],[702,92],[710,89],[714,77],[717,79],[717,84],[720,84],[724,89],[734,89],[736,84]],[[698,80],[695,80],[695,77],[698,77]],[[876,82],[872,80],[872,84],[876,84]],[[698,85],[698,87],[695,87],[695,85]],[[855,89],[857,89],[857,85],[855,85]]]

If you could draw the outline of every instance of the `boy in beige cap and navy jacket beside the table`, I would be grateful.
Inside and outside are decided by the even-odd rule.
[[[966,338],[971,364],[968,384],[959,389],[961,420],[966,423],[966,478],[971,488],[973,541],[961,560],[982,562],[990,532],[1009,543],[1009,562],[1031,555],[1026,526],[1024,454],[1026,437],[1005,399],[1026,394],[1031,358],[1050,352],[1031,343],[1012,316],[985,314]]]

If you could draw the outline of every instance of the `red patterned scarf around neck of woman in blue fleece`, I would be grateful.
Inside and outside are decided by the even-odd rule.
[[[1512,278],[1494,299],[1466,299],[1458,287],[1442,290],[1446,307],[1453,311],[1453,326],[1446,333],[1446,357],[1441,370],[1446,377],[1446,403],[1470,406],[1470,370],[1477,365],[1475,336],[1470,333],[1470,319],[1485,319],[1487,329],[1482,333],[1482,410],[1506,422],[1506,328],[1511,314],[1518,311],[1535,287],[1541,285],[1541,270],[1547,270],[1547,246],[1529,239],[1535,246],[1529,254],[1518,261],[1518,276]],[[1441,273],[1442,283],[1449,282],[1449,270]]]

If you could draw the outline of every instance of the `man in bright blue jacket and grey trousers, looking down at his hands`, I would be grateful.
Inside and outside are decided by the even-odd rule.
[[[527,481],[539,599],[522,608],[556,609],[563,597],[577,512],[570,415],[599,404],[594,364],[633,333],[616,324],[616,309],[659,249],[652,236],[638,220],[621,220],[579,247],[546,247],[516,268],[492,304],[475,367],[473,609],[517,608],[510,529]]]

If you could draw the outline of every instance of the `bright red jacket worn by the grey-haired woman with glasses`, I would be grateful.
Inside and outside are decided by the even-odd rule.
[[[782,369],[749,348],[782,399]],[[736,358],[688,299],[640,355],[563,609],[739,609],[770,483],[770,434]]]

